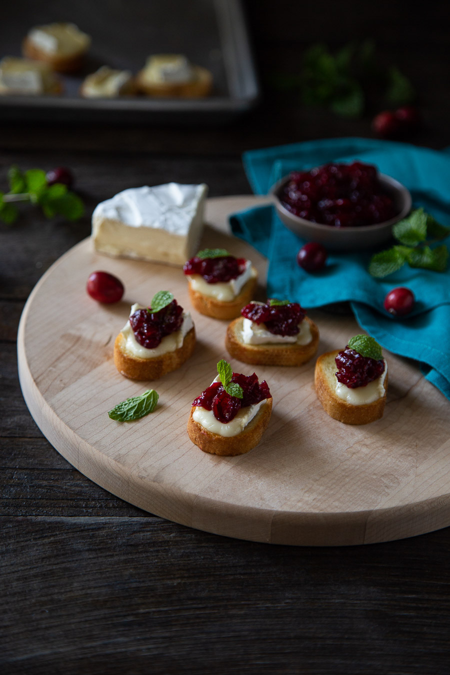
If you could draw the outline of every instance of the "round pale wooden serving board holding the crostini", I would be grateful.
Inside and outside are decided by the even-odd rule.
[[[202,247],[223,246],[265,261],[227,232],[227,215],[261,202],[253,196],[208,200]],[[113,305],[86,293],[88,275],[120,277]],[[40,280],[18,335],[20,382],[36,423],[55,448],[105,489],[131,504],[200,530],[271,543],[349,545],[411,537],[450,524],[450,404],[411,362],[385,354],[389,391],[383,418],[362,427],[331,419],[316,398],[314,359],[301,368],[256,367],[273,394],[260,445],[218,457],[186,433],[192,400],[228,358],[227,322],[192,311],[197,346],[178,371],[136,382],[119,375],[113,344],[133,302],[171,290],[190,308],[180,269],[96,254],[90,240],[69,250]],[[264,299],[264,289],[259,289]],[[345,346],[360,329],[352,317],[311,311],[318,354]],[[253,368],[231,361],[246,374]],[[107,414],[154,387],[159,405],[132,423]]]

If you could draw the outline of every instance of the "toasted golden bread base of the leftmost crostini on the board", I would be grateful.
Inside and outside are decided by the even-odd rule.
[[[158,379],[167,373],[176,371],[184,364],[196,344],[195,328],[192,327],[184,336],[181,347],[174,352],[166,352],[154,358],[138,358],[125,351],[125,338],[122,333],[117,335],[114,344],[115,367],[122,375],[136,380]]]

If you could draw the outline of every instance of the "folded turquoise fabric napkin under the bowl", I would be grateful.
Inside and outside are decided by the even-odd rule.
[[[251,151],[244,167],[256,194],[293,169],[329,161],[360,159],[393,176],[411,192],[414,207],[450,225],[450,155],[403,143],[337,138]],[[349,301],[356,320],[387,350],[420,362],[422,373],[450,399],[450,270],[433,272],[405,265],[384,279],[367,271],[373,251],[330,252],[326,267],[308,274],[296,253],[305,243],[281,223],[273,207],[257,207],[230,217],[233,233],[269,258],[267,294],[289,298],[305,308]],[[450,237],[444,242],[450,247]],[[389,247],[389,244],[385,248]],[[383,309],[389,290],[407,286],[416,297],[403,319]],[[349,336],[350,337],[350,336]]]

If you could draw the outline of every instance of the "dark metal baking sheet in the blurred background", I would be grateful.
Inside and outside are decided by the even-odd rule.
[[[92,36],[83,70],[61,76],[61,96],[0,96],[0,117],[84,121],[227,121],[256,105],[258,81],[239,0],[22,0],[3,7],[1,57],[21,55],[32,26],[67,21]],[[213,73],[206,99],[83,99],[82,80],[101,65],[143,68],[156,53],[181,53]]]

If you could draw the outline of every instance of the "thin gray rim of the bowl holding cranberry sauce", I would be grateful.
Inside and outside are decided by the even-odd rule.
[[[398,213],[396,216],[391,218],[390,220],[385,220],[383,223],[374,223],[374,225],[358,225],[357,227],[333,227],[332,225],[325,225],[324,223],[313,223],[310,220],[306,220],[304,218],[300,218],[298,215],[294,215],[291,213],[291,211],[288,211],[283,207],[281,204],[280,198],[278,196],[278,191],[289,180],[289,175],[287,174],[283,176],[283,178],[280,178],[277,180],[276,183],[271,186],[271,189],[269,190],[269,195],[271,195],[275,199],[275,206],[277,209],[281,211],[286,217],[289,219],[292,219],[293,223],[299,223],[300,225],[307,225],[311,228],[318,229],[318,231],[322,232],[347,232],[348,234],[351,233],[362,233],[362,232],[376,232],[378,229],[383,229],[384,227],[389,227],[390,225],[395,225],[395,223],[398,223],[400,220],[405,218],[408,213],[411,211],[412,207],[412,196],[410,193],[410,190],[405,188],[405,186],[399,182],[396,178],[392,178],[391,175],[387,175],[386,173],[380,173],[377,171],[378,174],[378,179],[381,182],[384,182],[389,186],[389,188],[393,188],[393,190],[397,190],[399,194],[401,194],[404,205],[403,209],[401,209],[400,213]]]

